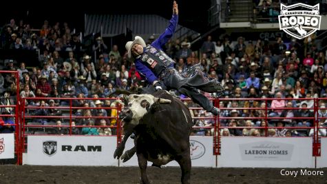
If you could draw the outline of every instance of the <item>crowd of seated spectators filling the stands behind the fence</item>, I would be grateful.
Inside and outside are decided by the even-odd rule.
[[[219,106],[228,109],[220,112],[220,117],[226,117],[220,120],[220,126],[224,127],[222,136],[308,136],[313,126],[312,98],[326,97],[327,87],[326,52],[319,50],[315,38],[315,34],[312,34],[303,41],[292,39],[286,44],[282,37],[277,37],[275,41],[251,41],[244,37],[231,38],[227,34],[209,35],[201,48],[192,48],[189,38],[174,39],[165,45],[165,52],[176,61],[178,72],[182,73],[200,63],[209,78],[218,79],[224,85]],[[118,48],[118,45],[108,47],[102,37],[96,37],[93,45],[86,49],[79,34],[74,34],[67,23],[50,25],[44,21],[42,28],[35,32],[23,21],[16,25],[12,19],[3,27],[1,39],[3,49],[41,53],[38,67],[25,65],[23,60],[8,59],[4,62],[2,70],[17,71],[19,77],[0,73],[1,103],[16,104],[16,95],[76,98],[72,101],[72,115],[80,118],[74,119],[71,124],[85,127],[74,127],[73,134],[115,134],[116,119],[108,119],[107,116],[117,115],[114,109],[116,102],[98,98],[116,97],[123,90],[136,92],[147,85],[134,63],[127,60],[123,48]],[[148,42],[153,40],[150,37]],[[214,93],[204,95],[218,97]],[[94,99],[83,99],[87,97]],[[182,95],[180,97],[184,98]],[[229,100],[231,98],[245,99]],[[267,98],[274,99],[266,101]],[[190,108],[198,108],[196,103],[184,103]],[[25,105],[39,107],[30,109],[28,113],[44,117],[63,116],[65,112],[61,107],[71,103],[67,99],[27,99]],[[319,108],[325,107],[326,102],[319,101]],[[14,112],[12,108],[2,108],[1,113]],[[205,119],[212,117],[211,114],[204,110],[191,110],[191,113],[202,117],[194,120],[196,127],[193,134],[212,135],[211,128],[215,121]],[[319,117],[326,116],[326,110],[319,110]],[[285,119],[266,121],[266,117]],[[302,118],[297,119],[299,117]],[[69,133],[62,127],[67,119],[40,117],[34,121],[40,125],[56,125],[52,130],[54,134]],[[320,119],[319,125],[324,127],[325,121]],[[94,125],[100,127],[92,127]],[[278,128],[267,131],[260,128],[266,126]],[[306,126],[308,131],[286,128],[297,126]],[[326,129],[321,129],[321,135],[326,136]]]

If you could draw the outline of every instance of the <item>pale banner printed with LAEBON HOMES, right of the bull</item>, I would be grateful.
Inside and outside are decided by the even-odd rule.
[[[314,167],[312,137],[222,137],[218,167]]]

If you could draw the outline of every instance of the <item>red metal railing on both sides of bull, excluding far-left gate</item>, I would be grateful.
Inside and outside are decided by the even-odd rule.
[[[115,116],[92,116],[92,119],[116,119],[116,125],[76,125],[75,127],[94,127],[94,128],[98,128],[98,127],[110,127],[112,129],[116,129],[116,135],[113,136],[117,136],[117,145],[120,144],[121,138],[123,136],[122,134],[122,127],[120,124],[120,120],[118,119],[119,116],[119,112],[121,111],[121,107],[120,106],[116,106],[114,108],[108,108],[108,107],[98,107],[98,108],[89,108],[89,107],[74,107],[73,106],[73,101],[77,101],[80,99],[76,99],[76,98],[54,98],[54,100],[58,100],[58,99],[62,99],[62,100],[66,100],[69,101],[68,106],[55,106],[55,107],[39,107],[39,106],[26,106],[25,105],[25,100],[35,100],[35,99],[43,99],[43,100],[50,100],[49,98],[24,98],[21,99],[21,114],[19,114],[17,116],[21,117],[20,120],[20,125],[21,128],[19,129],[20,131],[17,132],[17,134],[21,135],[20,136],[20,141],[21,143],[18,144],[18,146],[20,146],[20,160],[19,163],[21,163],[21,154],[23,152],[25,152],[25,146],[27,145],[27,143],[25,142],[25,137],[27,137],[29,134],[26,134],[27,132],[25,130],[27,130],[29,127],[43,127],[48,128],[48,127],[65,127],[68,128],[69,134],[72,135],[72,121],[73,119],[85,119],[89,116],[76,116],[74,115],[73,111],[74,110],[87,110],[87,109],[116,109],[118,112]],[[94,100],[108,100],[108,99],[104,99],[104,98],[99,98],[99,99],[94,99],[94,98],[83,98],[85,100],[90,100],[90,101],[94,101]],[[116,99],[110,99],[110,100],[116,100]],[[181,99],[182,101],[191,101],[191,99]],[[299,116],[295,116],[295,117],[280,117],[280,116],[269,116],[268,113],[274,110],[301,110],[302,108],[271,108],[268,106],[268,104],[273,101],[273,100],[285,100],[285,101],[293,101],[293,100],[297,100],[297,102],[299,103],[300,101],[308,101],[311,100],[313,101],[313,108],[307,108],[307,110],[311,110],[313,111],[313,115],[312,116],[308,116],[305,119],[312,121],[312,124],[310,126],[306,126],[306,125],[294,125],[294,126],[290,126],[290,127],[279,127],[276,125],[268,125],[268,123],[274,122],[276,123],[277,121],[284,121],[284,120],[288,120],[288,119],[293,119],[294,121],[298,121],[298,120],[302,120],[304,119],[304,117],[299,117]],[[320,129],[326,129],[326,127],[321,127],[319,124],[319,121],[321,121],[321,119],[327,119],[327,117],[319,117],[318,116],[318,112],[319,110],[327,110],[327,108],[319,108],[319,103],[321,101],[327,101],[327,98],[325,99],[211,99],[211,101],[213,101],[213,105],[215,107],[220,108],[221,112],[220,114],[218,114],[218,116],[205,116],[205,117],[193,117],[193,121],[196,120],[201,120],[201,119],[211,119],[214,123],[210,126],[193,126],[193,130],[198,130],[198,129],[205,129],[205,130],[213,130],[213,154],[215,155],[219,155],[220,154],[220,139],[221,139],[221,135],[220,132],[221,130],[223,130],[224,128],[228,129],[228,130],[233,130],[233,129],[239,129],[239,130],[243,130],[243,129],[257,129],[257,130],[262,130],[264,129],[265,134],[264,136],[270,136],[268,134],[268,130],[280,130],[280,129],[288,129],[288,130],[296,130],[296,131],[300,131],[300,130],[304,130],[306,132],[308,132],[308,130],[314,130],[313,132],[313,156],[320,156],[321,151],[320,151],[320,143],[319,143],[319,139],[321,136],[319,136],[319,130]],[[265,103],[266,106],[264,108],[257,108],[257,107],[220,107],[220,103],[221,102],[229,102],[231,103],[232,101],[257,101],[260,103]],[[39,116],[39,115],[32,115],[32,114],[28,114],[28,110],[36,110],[36,109],[52,109],[52,108],[56,108],[56,109],[65,109],[69,111],[69,114],[63,115],[63,116]],[[202,110],[202,108],[189,108],[190,110]],[[262,110],[265,114],[264,116],[224,116],[223,112],[224,111],[228,111],[231,112],[231,110]],[[68,112],[67,111],[67,112]],[[28,125],[26,123],[26,119],[68,119],[69,123],[66,125]],[[246,120],[261,120],[261,121],[266,121],[266,125],[263,127],[260,126],[251,126],[251,127],[247,127],[247,126],[236,126],[236,127],[231,127],[231,126],[226,126],[226,125],[222,125],[223,121],[229,121],[231,119],[235,119],[235,120],[242,120],[242,121],[246,121]],[[20,133],[19,133],[20,132]],[[44,132],[45,133],[45,132]],[[46,133],[45,133],[46,134]],[[54,134],[52,134],[54,135]],[[56,134],[56,136],[60,136],[58,134]],[[306,136],[309,136],[308,134],[306,134]]]

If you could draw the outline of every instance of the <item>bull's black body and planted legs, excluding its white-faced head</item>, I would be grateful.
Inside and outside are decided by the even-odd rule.
[[[189,135],[193,122],[189,108],[165,91],[155,92],[153,95],[157,98],[169,99],[171,103],[152,105],[147,114],[140,119],[140,123],[134,127],[136,133],[134,143],[141,182],[149,183],[146,172],[147,161],[159,167],[169,161],[177,161],[182,171],[182,183],[190,183]]]

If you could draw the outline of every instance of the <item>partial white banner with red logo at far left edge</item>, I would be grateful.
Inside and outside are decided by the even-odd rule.
[[[14,159],[14,134],[0,134],[0,159]]]

